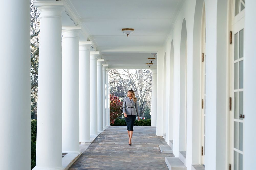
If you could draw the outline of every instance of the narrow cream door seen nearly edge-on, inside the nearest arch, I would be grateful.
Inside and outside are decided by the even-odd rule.
[[[201,48],[202,48],[202,57],[201,57],[201,156],[202,156],[202,164],[204,165],[205,162],[205,101],[206,101],[206,88],[205,88],[205,80],[206,80],[206,69],[205,69],[205,63],[206,63],[206,53],[205,53],[205,47],[206,47],[206,24],[205,24],[205,10],[203,9],[203,19],[202,19],[202,33],[201,33]]]

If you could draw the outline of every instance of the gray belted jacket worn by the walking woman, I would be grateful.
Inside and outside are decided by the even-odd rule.
[[[138,101],[136,103],[129,97],[124,98],[123,113],[127,115],[138,115],[140,116],[140,110],[138,109]]]

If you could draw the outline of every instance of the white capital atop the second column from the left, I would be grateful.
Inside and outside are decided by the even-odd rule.
[[[61,18],[61,13],[65,10],[65,4],[63,1],[36,1],[34,6],[39,10],[40,17],[42,18]]]

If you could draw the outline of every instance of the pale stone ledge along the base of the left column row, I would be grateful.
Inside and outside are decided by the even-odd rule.
[[[68,168],[71,167],[71,165],[76,162],[76,160],[79,158],[79,156],[90,146],[90,144],[108,127],[103,128],[103,130],[98,131],[97,135],[91,135],[90,136],[90,142],[79,142],[79,149],[80,153],[62,153],[62,155],[65,155],[62,157],[62,167],[63,170],[68,170]]]

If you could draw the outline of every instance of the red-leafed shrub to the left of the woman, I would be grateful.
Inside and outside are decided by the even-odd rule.
[[[122,115],[123,103],[117,96],[109,95],[109,119],[110,124],[114,124],[115,119]]]

